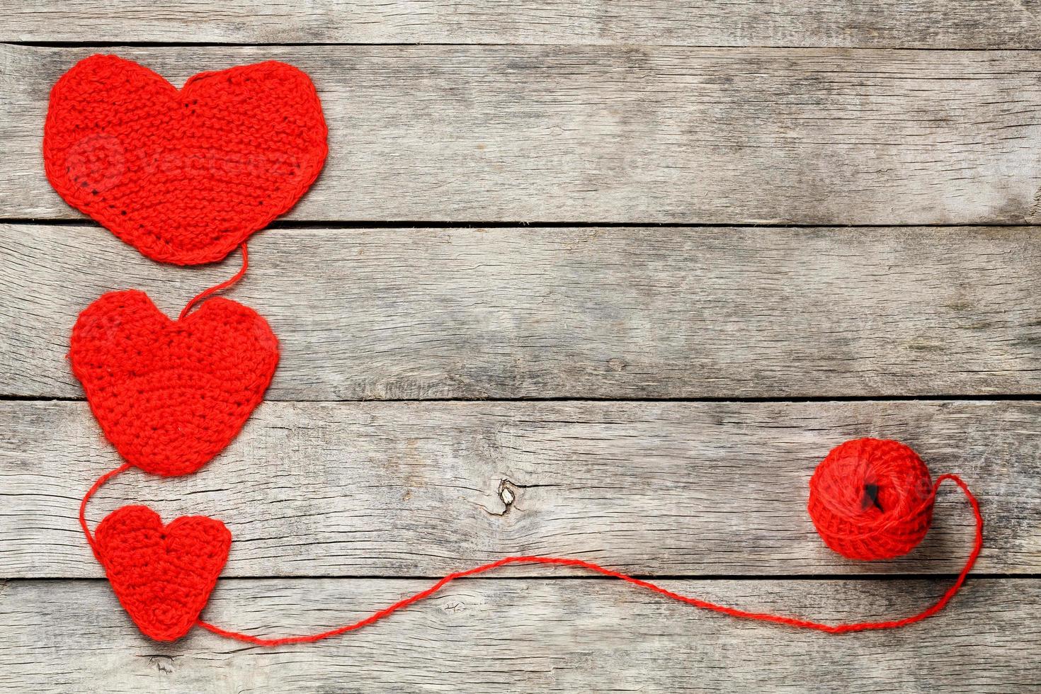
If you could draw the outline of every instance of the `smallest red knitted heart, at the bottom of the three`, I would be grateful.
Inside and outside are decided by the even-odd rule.
[[[146,636],[184,636],[228,561],[231,533],[220,520],[181,516],[163,526],[147,506],[124,506],[95,533],[98,559],[116,597]]]

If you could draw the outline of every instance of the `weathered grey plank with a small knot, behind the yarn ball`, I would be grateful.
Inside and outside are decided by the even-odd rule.
[[[0,575],[102,575],[76,514],[120,461],[86,406],[2,403],[0,432]],[[515,554],[664,575],[959,570],[972,522],[957,490],[902,560],[820,541],[810,474],[866,435],[969,482],[987,518],[977,570],[1041,570],[1041,404],[1025,402],[265,403],[199,472],[125,473],[87,517],[137,503],[220,518],[229,576],[432,576]]]

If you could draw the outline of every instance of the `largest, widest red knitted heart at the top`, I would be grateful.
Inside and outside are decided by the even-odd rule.
[[[51,89],[47,178],[70,205],[153,260],[220,260],[288,210],[325,162],[311,80],[269,60],[177,89],[136,62],[92,55]]]

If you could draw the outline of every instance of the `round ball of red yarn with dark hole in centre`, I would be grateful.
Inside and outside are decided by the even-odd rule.
[[[829,547],[849,559],[891,559],[914,549],[933,520],[929,468],[897,441],[836,446],[810,480],[808,510]]]

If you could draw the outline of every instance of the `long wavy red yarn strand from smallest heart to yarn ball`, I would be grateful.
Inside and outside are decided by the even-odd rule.
[[[559,566],[575,566],[612,579],[618,579],[619,581],[625,581],[626,583],[632,584],[639,588],[643,588],[652,592],[658,593],[660,595],[664,595],[669,599],[677,600],[679,602],[685,602],[687,605],[691,605],[695,608],[701,608],[703,610],[710,610],[712,612],[718,612],[725,615],[730,615],[732,617],[754,619],[763,622],[773,622],[777,624],[786,624],[788,626],[815,629],[818,632],[826,632],[828,634],[845,634],[847,632],[866,632],[872,629],[897,628],[900,626],[907,626],[908,624],[913,624],[915,622],[921,621],[922,619],[925,619],[926,617],[930,617],[931,615],[934,615],[940,610],[942,610],[943,607],[950,601],[950,598],[954,597],[955,594],[959,591],[959,589],[962,587],[962,584],[965,583],[965,577],[968,575],[968,572],[972,569],[972,566],[975,564],[976,558],[980,556],[980,550],[983,548],[983,515],[980,513],[979,502],[976,500],[972,492],[969,491],[968,485],[966,485],[962,481],[962,479],[959,478],[957,474],[941,474],[939,478],[937,478],[936,484],[933,485],[933,496],[936,495],[937,489],[944,480],[950,480],[951,482],[957,484],[961,488],[961,490],[965,493],[969,506],[972,509],[972,514],[975,517],[975,542],[973,544],[972,551],[969,554],[968,560],[965,562],[964,568],[962,568],[961,573],[958,575],[958,580],[955,581],[955,584],[947,589],[947,591],[940,597],[940,599],[916,615],[912,615],[910,617],[905,617],[903,619],[897,619],[897,620],[877,621],[877,622],[865,621],[865,622],[854,622],[846,624],[823,624],[820,622],[810,621],[807,619],[799,619],[795,617],[785,617],[782,615],[773,615],[760,612],[747,612],[744,610],[729,608],[722,605],[716,605],[715,602],[709,602],[707,600],[701,600],[695,597],[690,597],[688,595],[682,595],[680,593],[672,592],[666,588],[662,588],[661,586],[651,583],[650,581],[636,579],[634,576],[620,573],[618,571],[614,571],[612,569],[600,566],[599,564],[593,564],[592,562],[587,562],[581,559],[567,559],[560,557],[504,557],[503,559],[491,562],[490,564],[483,564],[481,566],[476,566],[474,568],[457,571],[455,573],[450,573],[449,575],[445,576],[443,579],[432,585],[430,588],[420,591],[418,593],[410,595],[404,599],[401,599],[395,602],[393,605],[383,608],[382,610],[374,612],[364,619],[356,621],[352,624],[340,626],[338,628],[330,629],[328,632],[322,632],[320,634],[311,634],[308,636],[294,636],[281,639],[262,639],[259,637],[251,636],[249,634],[242,634],[238,632],[225,629],[220,626],[215,626],[214,624],[210,624],[209,622],[205,622],[201,619],[198,620],[196,623],[199,626],[202,626],[203,628],[208,629],[213,634],[217,634],[218,636],[222,636],[228,639],[235,639],[237,641],[243,641],[246,643],[252,643],[258,646],[280,646],[293,643],[313,643],[315,641],[322,641],[323,639],[329,639],[334,636],[347,634],[348,632],[353,632],[355,629],[361,628],[362,626],[367,626],[369,624],[378,622],[381,619],[390,616],[395,612],[398,612],[399,610],[403,610],[414,602],[418,602],[420,600],[430,597],[431,595],[433,595],[438,590],[443,588],[449,583],[455,581],[456,579],[462,579],[465,576],[476,575],[478,573],[484,573],[485,571],[490,571],[501,566],[506,566],[507,564],[555,564]]]

